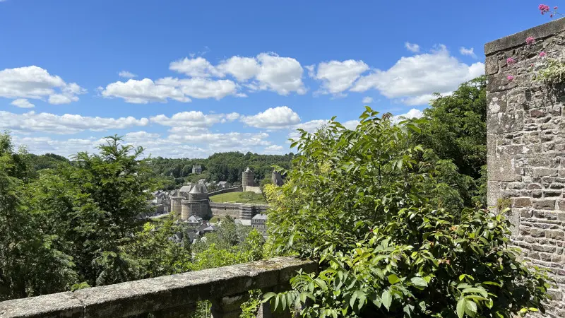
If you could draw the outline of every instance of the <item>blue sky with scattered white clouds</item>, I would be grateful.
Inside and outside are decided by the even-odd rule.
[[[113,134],[162,157],[287,153],[364,105],[420,115],[484,72],[485,42],[547,22],[539,4],[0,0],[0,129],[32,153]]]

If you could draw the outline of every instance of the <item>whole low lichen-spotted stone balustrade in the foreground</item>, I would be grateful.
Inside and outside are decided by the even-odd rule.
[[[0,302],[0,318],[190,317],[196,302],[210,300],[214,318],[239,317],[249,290],[289,288],[296,271],[317,270],[313,261],[278,257],[246,264],[148,278]],[[270,315],[268,304],[259,310]],[[264,314],[262,314],[263,312]]]

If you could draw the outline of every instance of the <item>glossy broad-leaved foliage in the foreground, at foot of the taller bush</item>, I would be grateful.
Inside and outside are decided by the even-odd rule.
[[[273,303],[309,304],[304,317],[514,317],[545,312],[545,271],[528,269],[507,247],[503,215],[465,211],[451,223],[444,211],[405,208],[347,252],[323,254],[328,268],[293,278]],[[486,226],[485,226],[486,225]],[[285,298],[286,300],[283,300]]]

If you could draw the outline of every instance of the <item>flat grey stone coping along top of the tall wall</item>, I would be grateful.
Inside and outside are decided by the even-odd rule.
[[[506,49],[511,49],[512,47],[521,47],[525,44],[525,39],[527,37],[533,37],[535,39],[543,39],[551,35],[555,35],[559,32],[565,30],[565,18],[559,18],[557,20],[552,20],[551,22],[537,25],[537,27],[524,30],[507,37],[502,37],[499,40],[494,40],[488,42],[484,45],[484,55],[492,55],[499,51],[504,51]]]

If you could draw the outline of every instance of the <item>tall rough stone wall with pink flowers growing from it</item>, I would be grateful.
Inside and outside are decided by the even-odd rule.
[[[535,42],[527,45],[527,37]],[[487,203],[511,208],[513,244],[557,281],[547,317],[565,317],[565,84],[536,79],[545,59],[565,59],[565,19],[489,42],[484,51]]]

